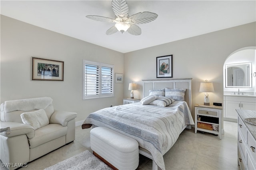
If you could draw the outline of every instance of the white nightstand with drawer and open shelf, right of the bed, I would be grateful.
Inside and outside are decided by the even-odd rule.
[[[222,107],[204,107],[198,104],[195,107],[195,133],[200,130],[212,134],[222,135]],[[198,127],[199,126],[199,127]],[[211,130],[213,128],[213,130]]]

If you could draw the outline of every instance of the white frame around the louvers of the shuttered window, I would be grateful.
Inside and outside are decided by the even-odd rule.
[[[99,82],[98,82],[98,86],[99,86],[99,93],[98,94],[94,94],[94,95],[86,95],[85,93],[85,86],[86,86],[86,81],[85,81],[85,71],[86,71],[86,64],[88,65],[94,65],[94,66],[98,66],[99,67]],[[111,74],[111,79],[112,79],[112,93],[108,93],[108,94],[102,94],[102,67],[108,67],[108,68],[112,68],[112,74]],[[114,65],[112,64],[105,64],[105,63],[100,63],[100,62],[93,62],[93,61],[88,61],[88,60],[83,60],[83,82],[82,82],[82,89],[83,89],[83,100],[86,99],[92,99],[92,98],[104,98],[104,97],[113,97],[114,96],[114,80],[115,80],[115,76],[114,76]]]

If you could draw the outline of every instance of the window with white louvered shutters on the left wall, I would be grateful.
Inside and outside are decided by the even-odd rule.
[[[114,66],[83,61],[83,99],[114,96]]]

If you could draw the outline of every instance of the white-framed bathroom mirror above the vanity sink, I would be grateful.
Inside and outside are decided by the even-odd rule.
[[[252,88],[251,63],[226,64],[226,88]]]

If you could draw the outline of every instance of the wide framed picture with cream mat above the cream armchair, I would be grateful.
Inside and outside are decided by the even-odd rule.
[[[64,62],[32,57],[32,80],[63,81]]]

